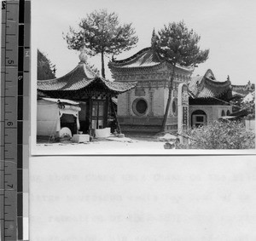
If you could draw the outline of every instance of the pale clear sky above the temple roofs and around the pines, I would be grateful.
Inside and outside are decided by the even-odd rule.
[[[79,63],[79,52],[67,49],[63,33],[97,9],[115,12],[120,23],[132,23],[136,30],[137,47],[117,55],[117,60],[149,47],[153,29],[157,32],[170,22],[183,20],[201,36],[201,49],[210,49],[208,60],[195,68],[193,76],[211,69],[218,81],[229,75],[232,84],[256,83],[255,0],[33,0],[32,47],[55,64],[56,77]],[[89,61],[101,70],[99,56]],[[108,69],[106,77],[111,78]]]

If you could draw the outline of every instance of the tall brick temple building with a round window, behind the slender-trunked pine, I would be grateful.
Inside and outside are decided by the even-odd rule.
[[[135,89],[118,96],[118,118],[122,130],[159,132],[166,112],[172,64],[164,60],[153,47],[149,47],[128,59],[112,60],[108,66],[115,81],[137,82]],[[193,71],[193,67],[176,67],[165,129],[175,132],[188,124],[187,83]]]

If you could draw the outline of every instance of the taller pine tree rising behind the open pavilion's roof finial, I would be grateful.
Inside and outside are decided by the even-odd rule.
[[[68,49],[85,49],[90,56],[102,57],[102,77],[105,77],[104,55],[119,55],[122,51],[135,47],[137,36],[130,24],[119,24],[115,13],[106,9],[87,14],[79,23],[79,31],[70,27],[64,36]]]

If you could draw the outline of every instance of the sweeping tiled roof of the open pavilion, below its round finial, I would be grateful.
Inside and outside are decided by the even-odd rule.
[[[111,82],[103,77],[99,77],[90,69],[90,66],[80,62],[71,72],[63,77],[49,80],[38,80],[39,92],[72,92],[82,89],[90,91],[106,91],[113,94],[121,94],[135,88],[137,83]]]

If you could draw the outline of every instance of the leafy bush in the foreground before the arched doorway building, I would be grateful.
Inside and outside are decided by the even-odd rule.
[[[207,126],[189,129],[187,144],[177,149],[254,149],[255,134],[238,121],[214,121]]]

